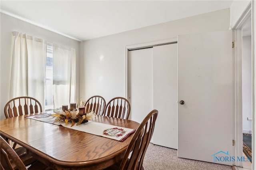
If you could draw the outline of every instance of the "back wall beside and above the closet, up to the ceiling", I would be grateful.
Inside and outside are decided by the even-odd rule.
[[[125,96],[126,45],[228,30],[229,26],[230,11],[224,9],[85,41],[80,59],[80,96],[87,99],[102,95],[106,101]]]

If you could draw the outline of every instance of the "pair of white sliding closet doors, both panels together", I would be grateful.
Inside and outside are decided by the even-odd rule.
[[[130,119],[157,109],[154,144],[177,149],[177,44],[129,51]]]

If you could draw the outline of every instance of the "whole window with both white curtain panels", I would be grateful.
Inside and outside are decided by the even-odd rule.
[[[43,110],[61,109],[76,99],[74,48],[13,32],[10,99],[30,96]]]

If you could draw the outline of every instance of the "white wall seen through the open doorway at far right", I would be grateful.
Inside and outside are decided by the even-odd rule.
[[[252,132],[252,37],[246,36],[242,40],[242,115],[243,132]]]

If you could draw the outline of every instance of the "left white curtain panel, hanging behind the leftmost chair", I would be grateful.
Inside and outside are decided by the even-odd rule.
[[[13,32],[9,98],[30,96],[44,107],[46,43],[44,40]]]

